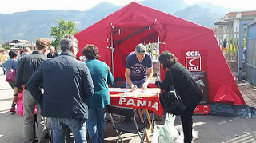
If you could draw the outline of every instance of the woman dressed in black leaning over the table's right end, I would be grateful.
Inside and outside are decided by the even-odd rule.
[[[190,71],[186,69],[178,58],[169,51],[164,51],[158,57],[163,70],[170,70],[166,72],[165,79],[161,82],[157,80],[155,84],[164,91],[170,90],[170,85],[174,85],[174,89],[178,92],[186,109],[181,113],[182,128],[184,133],[184,143],[192,141],[192,126],[194,109],[200,101],[202,101],[202,90],[194,81]],[[171,77],[173,83],[171,82]]]

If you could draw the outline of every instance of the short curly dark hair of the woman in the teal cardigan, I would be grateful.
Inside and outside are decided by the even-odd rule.
[[[84,49],[82,50],[82,54],[86,56],[87,59],[98,59],[99,58],[99,51],[97,46],[93,44],[86,44]]]

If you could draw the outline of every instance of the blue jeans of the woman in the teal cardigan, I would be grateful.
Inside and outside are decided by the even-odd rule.
[[[106,108],[88,109],[88,133],[90,142],[104,142]]]

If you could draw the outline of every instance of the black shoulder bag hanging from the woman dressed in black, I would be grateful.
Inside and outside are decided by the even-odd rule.
[[[168,70],[170,72],[170,70]],[[184,105],[182,98],[178,95],[176,90],[174,89],[174,81],[173,77],[170,72],[170,90],[160,93],[160,104],[162,105],[162,108],[167,113],[172,113],[174,115],[181,115],[181,113],[186,109],[186,106]]]

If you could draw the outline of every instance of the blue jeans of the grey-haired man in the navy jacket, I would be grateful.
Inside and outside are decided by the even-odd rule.
[[[54,143],[65,142],[66,130],[69,127],[75,142],[86,143],[86,119],[51,118]]]

